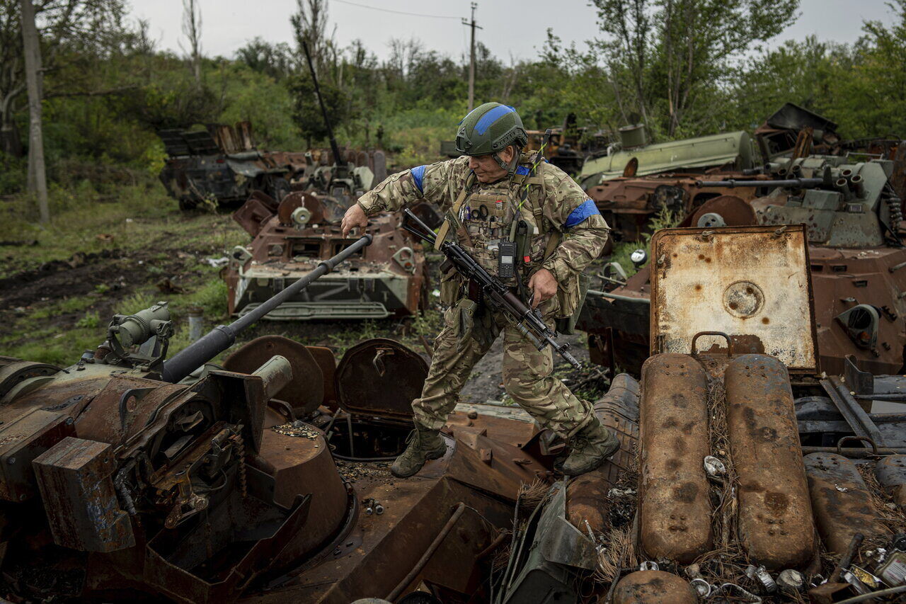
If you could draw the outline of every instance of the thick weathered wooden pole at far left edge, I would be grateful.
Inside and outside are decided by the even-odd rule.
[[[38,196],[41,222],[50,222],[47,207],[47,173],[44,170],[44,140],[41,130],[41,45],[34,26],[32,0],[22,0],[22,45],[25,55],[25,85],[28,88],[29,143],[28,190]]]

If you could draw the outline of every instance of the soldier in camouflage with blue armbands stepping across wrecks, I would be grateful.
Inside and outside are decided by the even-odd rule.
[[[391,175],[346,211],[343,236],[354,228],[365,229],[367,217],[378,212],[433,201],[447,217],[438,241],[458,238],[488,272],[503,278],[533,308],[539,307],[553,328],[555,318],[575,312],[579,275],[601,253],[610,229],[594,202],[563,170],[522,152],[527,141],[515,109],[498,102],[477,107],[457,134],[457,149],[465,156]],[[507,277],[512,271],[498,252],[502,241],[514,240],[524,273]],[[472,367],[500,332],[506,392],[569,444],[562,472],[578,475],[600,466],[619,442],[595,417],[591,404],[551,375],[550,348],[538,351],[506,317],[483,307],[477,292],[468,289],[467,280],[455,270],[440,278],[441,302],[448,306],[444,327],[434,342],[421,397],[412,402],[415,430],[393,463],[393,474],[409,477],[445,453],[439,431]]]

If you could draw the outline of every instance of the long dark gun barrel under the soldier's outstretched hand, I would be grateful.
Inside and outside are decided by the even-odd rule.
[[[229,325],[218,325],[211,329],[205,336],[199,338],[193,344],[190,344],[173,358],[165,361],[163,364],[162,377],[165,382],[171,384],[177,383],[182,378],[191,374],[204,365],[207,361],[222,353],[226,348],[233,346],[236,341],[236,334],[244,331],[255,321],[264,317],[267,313],[279,307],[281,304],[294,297],[311,283],[331,272],[334,267],[340,264],[346,258],[358,252],[361,248],[371,245],[371,235],[363,235],[357,239],[348,248],[344,248],[333,258],[323,260],[312,272],[300,278],[293,285],[286,287],[283,291],[265,301],[261,306],[255,307],[254,310],[242,317],[236,319]]]

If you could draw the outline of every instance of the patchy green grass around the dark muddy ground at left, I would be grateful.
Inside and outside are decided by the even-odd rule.
[[[0,309],[0,354],[70,365],[105,339],[113,314],[130,315],[161,300],[169,302],[177,325],[170,354],[188,345],[188,307],[201,307],[211,326],[226,320],[226,284],[217,268],[201,260],[224,256],[248,240],[230,210],[186,214],[152,180],[111,190],[101,194],[87,184],[53,188],[52,218],[43,226],[34,220],[29,196],[0,202],[0,241],[37,241],[0,247],[0,278],[80,252],[116,251],[93,260],[103,263],[104,282],[87,294],[61,291],[24,309]],[[180,293],[161,293],[156,284],[162,278],[170,278]]]

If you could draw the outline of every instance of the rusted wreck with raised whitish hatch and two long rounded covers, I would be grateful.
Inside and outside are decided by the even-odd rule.
[[[824,370],[805,225],[651,241],[651,356],[596,408],[637,404],[637,465],[593,508],[609,600],[902,601],[901,375]],[[654,259],[657,258],[657,259]],[[588,475],[581,480],[593,480]]]

